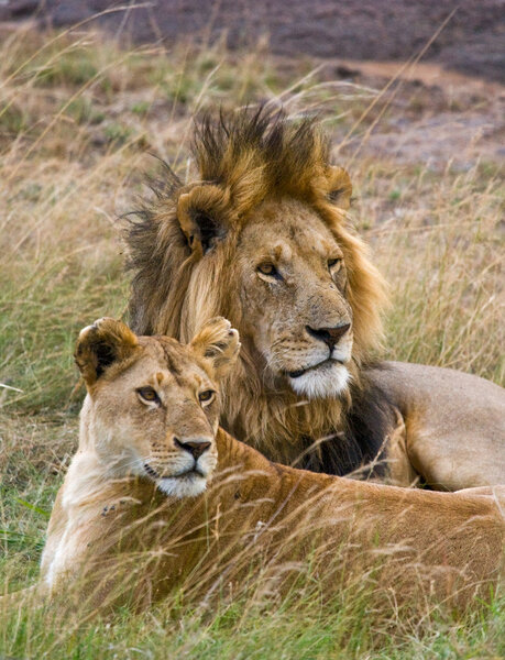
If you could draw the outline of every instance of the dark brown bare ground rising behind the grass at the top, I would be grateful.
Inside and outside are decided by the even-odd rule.
[[[140,3],[140,0],[138,0]],[[405,61],[418,54],[446,19],[449,22],[425,61],[505,81],[503,0],[154,0],[124,10],[111,0],[11,0],[0,19],[36,16],[41,24],[72,25],[94,14],[100,25],[138,42],[191,37],[226,38],[251,46],[266,36],[273,53],[317,57]]]

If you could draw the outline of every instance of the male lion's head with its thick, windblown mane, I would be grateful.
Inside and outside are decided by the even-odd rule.
[[[250,427],[263,417],[259,432],[289,437],[284,411],[298,402],[348,402],[382,337],[384,282],[350,227],[352,186],[329,153],[310,119],[264,109],[205,119],[197,179],[183,184],[167,168],[128,234],[135,330],[188,341],[217,315],[239,329],[224,415],[241,438],[246,414]],[[299,415],[314,428],[308,409]]]

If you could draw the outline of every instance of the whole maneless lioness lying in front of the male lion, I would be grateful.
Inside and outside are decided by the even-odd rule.
[[[396,598],[485,596],[505,530],[491,490],[403,490],[271,463],[218,428],[239,345],[224,319],[188,345],[108,318],[80,332],[88,396],[42,557],[50,591],[80,576],[83,602],[145,607],[184,580],[200,598],[237,584],[254,557],[277,574],[309,557],[326,593],[361,568]]]

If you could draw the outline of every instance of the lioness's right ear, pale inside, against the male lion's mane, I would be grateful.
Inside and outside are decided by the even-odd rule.
[[[206,323],[189,345],[201,358],[211,360],[216,376],[222,378],[239,355],[239,332],[230,321],[218,317]]]

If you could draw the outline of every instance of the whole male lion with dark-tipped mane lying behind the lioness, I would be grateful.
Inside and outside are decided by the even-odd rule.
[[[384,282],[349,226],[351,183],[317,123],[264,109],[204,119],[194,156],[199,179],[167,168],[129,230],[130,309],[142,334],[188,341],[215,316],[239,329],[223,427],[314,471],[449,491],[505,483],[502,388],[371,364]]]

